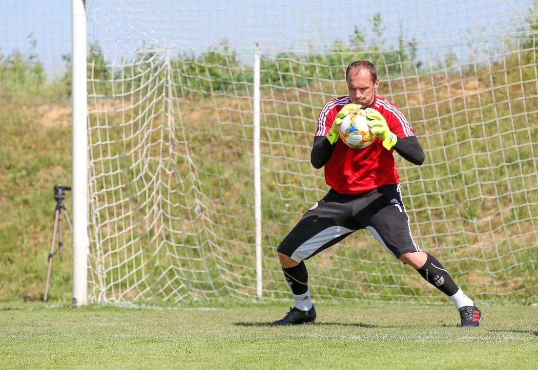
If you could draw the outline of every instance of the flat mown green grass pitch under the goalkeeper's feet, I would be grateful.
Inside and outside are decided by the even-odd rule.
[[[538,366],[538,307],[316,306],[315,325],[268,326],[285,305],[84,307],[0,303],[0,368],[506,368]]]

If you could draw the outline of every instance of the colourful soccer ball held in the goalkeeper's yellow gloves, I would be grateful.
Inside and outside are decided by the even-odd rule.
[[[351,148],[366,148],[376,139],[370,132],[368,121],[364,109],[349,113],[342,119],[340,139]]]

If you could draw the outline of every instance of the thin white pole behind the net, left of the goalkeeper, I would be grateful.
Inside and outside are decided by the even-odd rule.
[[[261,298],[261,164],[260,164],[260,53],[254,48],[254,221],[256,228],[256,295]]]

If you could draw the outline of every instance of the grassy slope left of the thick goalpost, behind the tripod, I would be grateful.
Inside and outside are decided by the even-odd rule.
[[[0,104],[4,130],[0,147],[3,300],[43,296],[56,206],[53,186],[68,184],[71,178],[69,106],[69,102]],[[70,233],[63,234],[67,246]],[[59,256],[54,257],[54,279],[66,285],[70,280],[69,256],[69,248],[65,248],[62,262]]]

